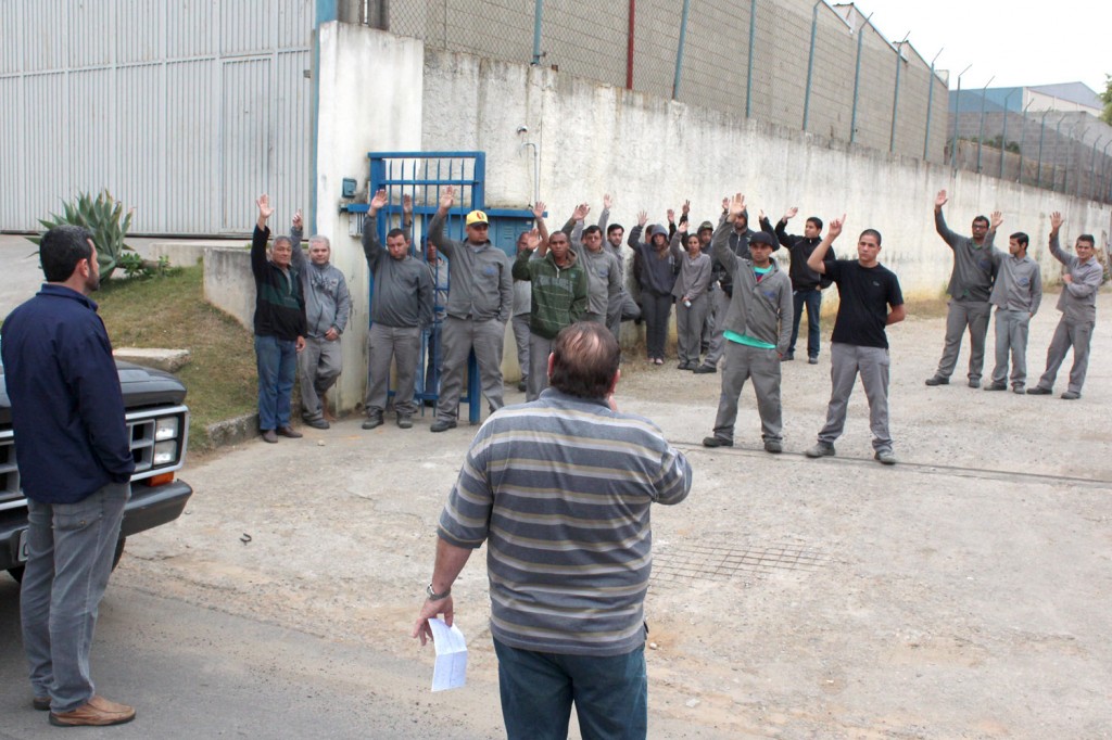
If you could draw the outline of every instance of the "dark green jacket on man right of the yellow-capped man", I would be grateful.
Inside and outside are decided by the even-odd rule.
[[[532,250],[524,250],[514,261],[514,278],[533,283],[533,310],[529,331],[545,339],[555,339],[564,327],[579,319],[587,310],[587,273],[568,251],[568,264],[557,267],[553,253],[535,260]]]

